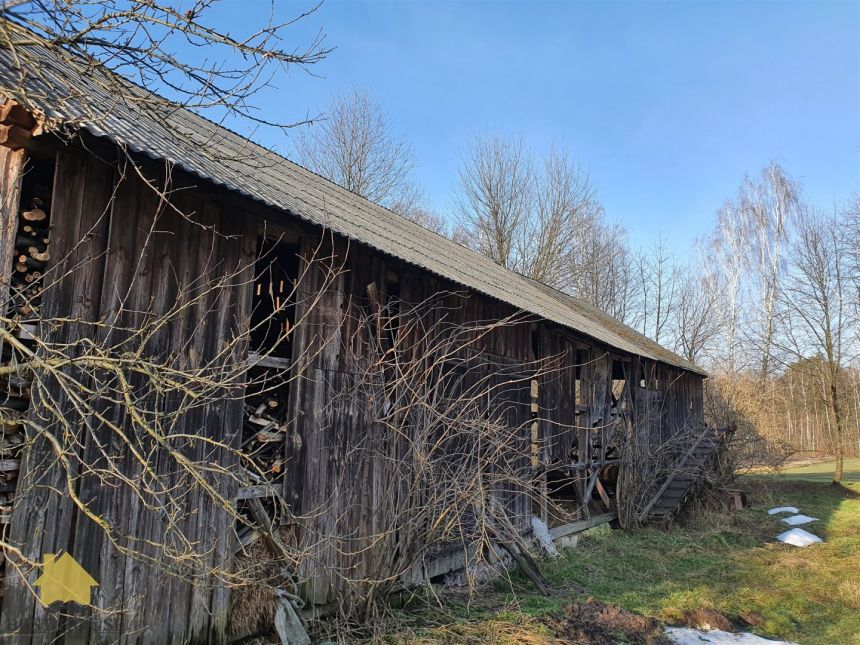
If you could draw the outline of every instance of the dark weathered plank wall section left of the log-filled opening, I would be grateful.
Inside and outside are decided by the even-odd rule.
[[[42,308],[43,318],[67,317],[68,321],[43,325],[42,338],[63,343],[96,336],[104,343],[122,343],[127,333],[124,328],[164,312],[183,294],[187,297],[188,285],[201,276],[227,275],[241,266],[253,266],[256,224],[251,217],[222,208],[199,193],[181,192],[175,200],[186,213],[195,213],[197,223],[165,208],[129,167],[120,169],[71,150],[57,154],[52,259],[46,270],[54,281],[46,280]],[[208,294],[158,331],[146,351],[170,355],[191,366],[211,360],[226,339],[242,331],[251,295],[243,283],[250,277],[246,271],[235,276],[232,287]],[[85,321],[109,324],[95,327]],[[86,376],[82,378],[86,385]],[[144,385],[131,376],[133,388]],[[50,383],[43,391],[57,409],[69,405],[65,393]],[[143,405],[149,409],[175,409],[179,404],[175,392],[163,397],[140,390],[137,394],[144,397]],[[33,401],[31,416],[36,421],[47,420],[49,432],[62,431],[48,417],[40,418],[45,404]],[[106,404],[103,412],[122,424],[116,409]],[[235,444],[241,415],[240,401],[225,400],[186,414],[176,431]],[[101,443],[108,454],[123,460],[132,480],[142,476],[128,449],[103,424],[93,421],[89,427],[72,431],[78,433],[78,451],[85,462],[98,464],[97,443]],[[146,437],[131,440],[140,450],[153,448]],[[232,459],[223,450],[204,455],[201,443],[194,445],[188,449],[192,459],[205,457],[222,463]],[[226,512],[213,506],[192,482],[180,480],[176,468],[165,460],[156,460],[152,466],[165,481],[185,487],[189,505],[197,506],[196,512],[182,520],[181,531],[208,553],[210,566],[228,563],[233,531]],[[118,546],[63,493],[67,475],[82,502],[118,527]],[[232,496],[230,482],[212,483],[228,498]],[[67,642],[115,642],[120,634],[123,642],[187,642],[223,635],[229,596],[219,583],[210,578],[192,584],[166,575],[162,550],[146,543],[162,538],[166,519],[158,509],[143,507],[127,488],[106,491],[91,475],[64,471],[48,442],[36,439],[23,459],[11,542],[34,562],[40,562],[45,553],[72,554],[99,583],[93,594],[97,610],[73,604],[46,609],[31,587],[38,569],[27,567],[17,574],[8,567],[0,630],[19,634],[16,642],[20,643],[49,642],[60,633],[68,634]],[[121,549],[138,550],[151,561],[125,557]]]

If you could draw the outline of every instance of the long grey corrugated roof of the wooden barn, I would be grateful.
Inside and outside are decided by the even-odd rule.
[[[159,117],[109,91],[109,72],[28,48],[38,73],[22,77],[0,49],[0,82],[26,107],[231,191],[367,244],[469,289],[590,336],[623,352],[704,372],[594,306],[561,293],[351,193],[186,109]],[[32,63],[31,63],[32,64]],[[16,88],[24,88],[22,94]],[[132,91],[143,93],[137,87]]]

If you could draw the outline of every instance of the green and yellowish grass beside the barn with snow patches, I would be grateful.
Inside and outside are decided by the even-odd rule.
[[[855,463],[853,483],[832,487],[826,468],[745,478],[751,507],[737,513],[701,514],[670,532],[587,538],[544,563],[552,596],[537,595],[514,575],[468,601],[448,594],[441,607],[402,612],[400,634],[386,640],[558,643],[544,619],[591,597],[670,624],[685,612],[713,609],[763,636],[860,644],[860,480]],[[825,543],[797,549],[775,542],[787,528],[767,515],[775,505],[819,518],[810,530]]]

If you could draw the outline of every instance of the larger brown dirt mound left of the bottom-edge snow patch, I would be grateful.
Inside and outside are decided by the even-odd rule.
[[[570,605],[548,621],[555,635],[576,645],[670,645],[663,624],[613,605],[589,600]]]

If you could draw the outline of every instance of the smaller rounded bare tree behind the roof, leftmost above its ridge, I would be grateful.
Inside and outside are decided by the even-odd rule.
[[[369,92],[334,97],[324,114],[299,133],[302,164],[396,213],[436,225],[420,209],[421,190],[412,179],[415,151],[393,134],[388,115]]]

